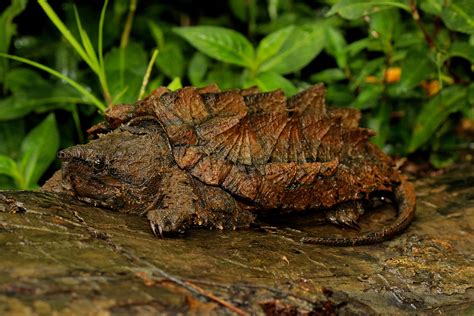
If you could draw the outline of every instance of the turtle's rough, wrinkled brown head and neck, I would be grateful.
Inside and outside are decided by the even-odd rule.
[[[79,200],[130,213],[143,213],[159,196],[173,166],[162,132],[117,130],[59,153],[62,190]]]

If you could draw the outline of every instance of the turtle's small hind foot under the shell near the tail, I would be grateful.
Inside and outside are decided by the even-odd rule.
[[[358,220],[364,212],[361,201],[349,201],[327,210],[325,215],[326,219],[334,225],[360,230]]]

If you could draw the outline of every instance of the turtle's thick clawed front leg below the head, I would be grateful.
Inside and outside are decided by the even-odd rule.
[[[229,193],[205,185],[178,168],[163,180],[161,194],[148,209],[147,217],[156,236],[184,232],[191,226],[235,229],[255,220]]]

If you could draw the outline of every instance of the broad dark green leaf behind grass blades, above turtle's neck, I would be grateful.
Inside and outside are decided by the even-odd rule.
[[[130,42],[125,48],[112,48],[105,55],[110,93],[117,103],[137,101],[148,58],[143,47]],[[125,91],[125,92],[124,92]],[[121,97],[116,99],[121,94]]]

